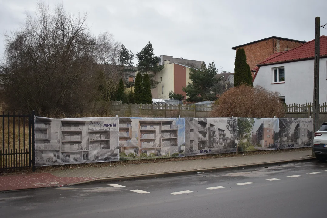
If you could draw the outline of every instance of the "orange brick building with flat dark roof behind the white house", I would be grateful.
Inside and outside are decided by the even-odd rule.
[[[256,65],[266,60],[270,55],[276,52],[288,51],[304,43],[305,41],[271,36],[243,45],[238,45],[232,47],[232,49],[237,51],[237,49],[243,48],[245,50],[247,63],[250,65],[253,77],[254,72],[257,69]]]

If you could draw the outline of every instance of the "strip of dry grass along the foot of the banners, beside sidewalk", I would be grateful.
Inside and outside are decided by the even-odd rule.
[[[42,173],[42,172],[52,172],[56,170],[77,169],[77,168],[86,168],[86,167],[114,167],[114,166],[125,166],[131,164],[163,163],[163,162],[185,161],[185,160],[203,160],[203,159],[212,159],[212,158],[238,157],[238,156],[247,156],[247,155],[256,155],[256,154],[285,153],[285,152],[308,151],[308,150],[311,150],[311,148],[251,151],[251,152],[242,152],[242,153],[222,153],[222,154],[211,154],[211,155],[175,157],[175,158],[171,157],[171,158],[157,158],[157,159],[143,159],[143,160],[126,160],[126,161],[117,161],[117,162],[46,166],[46,167],[37,167],[35,172],[32,172],[31,168],[28,168],[20,171],[9,172],[9,173],[3,172],[2,175],[13,175],[13,174],[22,174],[22,173],[24,174]]]

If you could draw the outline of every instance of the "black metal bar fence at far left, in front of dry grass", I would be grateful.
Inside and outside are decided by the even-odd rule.
[[[0,115],[0,172],[26,167],[35,171],[34,119],[35,111]]]

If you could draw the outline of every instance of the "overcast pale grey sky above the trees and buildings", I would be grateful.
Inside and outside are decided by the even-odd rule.
[[[24,23],[36,0],[0,0],[0,34]],[[325,0],[47,0],[66,10],[88,13],[92,32],[109,31],[134,53],[148,41],[155,55],[215,61],[221,71],[234,71],[235,50],[269,36],[314,39],[315,17],[327,23]],[[327,27],[327,25],[326,25]],[[320,30],[327,35],[327,29]],[[4,37],[0,37],[0,58]],[[134,65],[136,64],[136,60]]]

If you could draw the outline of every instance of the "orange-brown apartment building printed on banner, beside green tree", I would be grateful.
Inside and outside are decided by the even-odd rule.
[[[256,143],[254,142],[256,137]],[[274,144],[274,125],[263,122],[260,124],[256,134],[252,133],[252,144],[260,144],[261,146],[268,147],[270,144]]]

